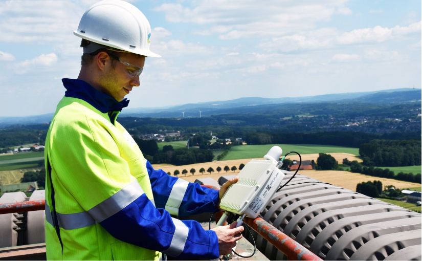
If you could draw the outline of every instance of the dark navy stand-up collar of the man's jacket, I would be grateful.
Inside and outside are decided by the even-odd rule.
[[[120,112],[129,104],[129,100],[126,98],[118,102],[115,98],[96,90],[85,81],[67,78],[63,78],[61,81],[66,88],[64,96],[84,100],[102,113]]]

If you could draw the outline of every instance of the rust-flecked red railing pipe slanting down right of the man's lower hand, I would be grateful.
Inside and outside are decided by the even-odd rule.
[[[256,219],[245,218],[245,223],[260,234],[270,244],[283,252],[288,260],[322,260],[316,254],[294,241],[270,223],[257,217]]]

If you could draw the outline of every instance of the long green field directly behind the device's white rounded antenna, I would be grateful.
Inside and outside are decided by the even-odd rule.
[[[271,147],[280,146],[283,155],[290,151],[297,151],[299,154],[316,154],[316,153],[348,153],[359,156],[359,148],[349,148],[329,145],[313,145],[313,144],[268,144],[268,145],[241,145],[234,146],[230,149],[229,154],[223,160],[241,160],[262,158],[268,153]]]

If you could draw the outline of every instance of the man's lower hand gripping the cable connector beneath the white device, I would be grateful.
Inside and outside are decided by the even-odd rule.
[[[232,252],[232,248],[236,246],[236,241],[242,238],[243,226],[236,227],[237,222],[233,222],[227,226],[218,226],[213,230],[218,237],[218,251],[220,255],[227,255]]]

